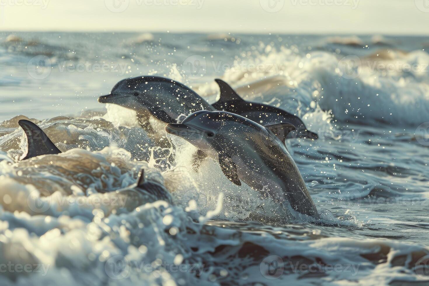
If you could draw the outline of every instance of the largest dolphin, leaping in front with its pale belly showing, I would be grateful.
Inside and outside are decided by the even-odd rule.
[[[317,216],[298,167],[283,144],[294,130],[290,123],[262,126],[227,111],[197,111],[166,132],[184,138],[218,160],[224,175],[240,186],[244,181],[261,193],[268,187],[276,201],[299,213]]]

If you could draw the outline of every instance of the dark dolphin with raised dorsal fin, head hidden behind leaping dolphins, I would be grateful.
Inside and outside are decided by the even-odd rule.
[[[242,99],[229,84],[217,78],[215,81],[221,89],[221,97],[218,102],[212,104],[216,110],[223,110],[239,114],[260,124],[268,123],[292,123],[296,127],[298,137],[317,139],[317,134],[307,130],[305,124],[296,115],[283,109],[258,102],[250,102]]]

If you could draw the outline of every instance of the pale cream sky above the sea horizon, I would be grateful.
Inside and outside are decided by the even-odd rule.
[[[0,30],[429,34],[429,0],[0,0]]]

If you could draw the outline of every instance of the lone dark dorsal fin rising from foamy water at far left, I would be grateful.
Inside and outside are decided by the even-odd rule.
[[[61,151],[52,143],[48,135],[40,129],[35,123],[21,119],[18,121],[19,126],[24,129],[25,136],[27,136],[28,151],[21,160],[26,160],[32,157],[45,155],[45,154],[59,154]]]

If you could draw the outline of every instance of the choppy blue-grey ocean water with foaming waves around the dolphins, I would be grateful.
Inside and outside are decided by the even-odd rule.
[[[429,285],[428,48],[410,36],[0,33],[1,284]],[[286,144],[320,219],[280,223],[214,161],[193,172],[194,147],[159,121],[174,149],[134,111],[97,102],[138,75],[208,102],[222,78],[299,115],[320,138]],[[63,153],[19,161],[22,118]],[[130,207],[118,190],[141,168],[174,204]]]

